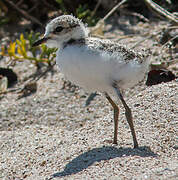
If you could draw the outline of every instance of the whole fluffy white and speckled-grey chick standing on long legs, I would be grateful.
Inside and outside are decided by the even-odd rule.
[[[148,57],[110,40],[92,38],[81,20],[63,15],[46,26],[44,37],[34,43],[46,43],[58,48],[56,62],[68,80],[90,91],[102,92],[114,109],[114,144],[117,144],[119,107],[121,100],[134,147],[138,147],[132,113],[121,92],[144,78]]]

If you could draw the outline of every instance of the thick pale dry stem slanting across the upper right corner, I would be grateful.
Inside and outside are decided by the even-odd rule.
[[[169,11],[165,10],[164,8],[162,8],[161,6],[159,6],[158,4],[153,2],[152,0],[144,0],[144,1],[146,2],[146,4],[149,7],[154,9],[157,13],[165,16],[167,19],[169,19],[169,20],[173,21],[174,23],[178,24],[178,18],[176,16],[174,16],[174,14],[172,14]]]

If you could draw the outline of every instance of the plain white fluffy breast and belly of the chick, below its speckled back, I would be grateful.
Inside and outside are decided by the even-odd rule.
[[[122,57],[94,53],[86,47],[69,46],[59,50],[56,61],[68,80],[90,91],[113,91],[113,81],[121,88],[133,86],[143,79],[146,71],[135,61],[126,64]]]

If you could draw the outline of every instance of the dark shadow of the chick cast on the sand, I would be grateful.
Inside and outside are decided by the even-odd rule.
[[[109,160],[123,156],[156,157],[157,154],[152,152],[150,148],[146,146],[139,147],[137,149],[116,148],[113,146],[103,146],[101,148],[94,148],[74,158],[65,166],[63,171],[53,174],[51,179],[76,174],[88,168],[95,162],[100,162],[102,160]]]

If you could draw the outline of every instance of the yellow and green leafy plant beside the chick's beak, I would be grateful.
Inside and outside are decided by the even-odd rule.
[[[26,38],[25,38],[26,37]],[[56,57],[56,48],[47,48],[42,44],[40,47],[32,47],[33,43],[39,39],[39,33],[26,33],[21,34],[20,39],[16,39],[15,42],[10,42],[7,47],[2,46],[0,55],[9,57],[13,61],[29,60],[32,63],[38,65],[39,62],[47,63],[51,65]],[[40,55],[39,55],[40,54]]]

